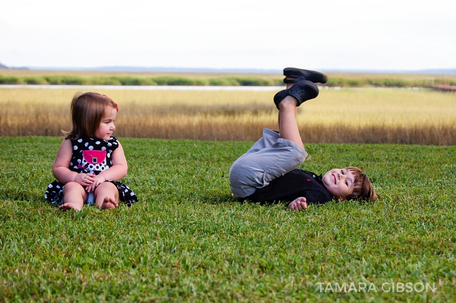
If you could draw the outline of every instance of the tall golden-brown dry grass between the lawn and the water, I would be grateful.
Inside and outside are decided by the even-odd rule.
[[[0,89],[0,135],[61,135],[72,89]],[[277,129],[274,92],[103,90],[120,106],[116,135],[257,140]],[[298,110],[304,142],[456,144],[456,94],[322,89]]]

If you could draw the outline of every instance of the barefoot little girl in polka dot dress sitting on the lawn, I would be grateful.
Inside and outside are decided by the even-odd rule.
[[[45,198],[59,209],[81,210],[84,202],[100,209],[128,206],[138,201],[130,188],[119,182],[127,175],[127,160],[117,138],[119,107],[105,95],[77,93],[71,102],[72,130],[55,157],[52,172],[57,180],[49,184]]]

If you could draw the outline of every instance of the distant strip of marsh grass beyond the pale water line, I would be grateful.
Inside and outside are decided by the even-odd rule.
[[[0,84],[280,86],[281,73],[2,70]],[[328,87],[456,86],[453,74],[328,73]]]

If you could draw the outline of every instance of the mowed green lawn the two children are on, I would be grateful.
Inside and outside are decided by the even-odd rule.
[[[456,147],[309,144],[302,168],[362,168],[383,196],[291,212],[230,196],[251,142],[121,138],[131,208],[44,198],[55,137],[0,138],[2,301],[431,301],[456,298]],[[317,283],[378,292],[320,292]],[[383,283],[436,292],[383,292]]]

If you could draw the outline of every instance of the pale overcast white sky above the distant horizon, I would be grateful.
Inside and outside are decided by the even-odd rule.
[[[456,68],[456,1],[0,0],[0,63]]]

